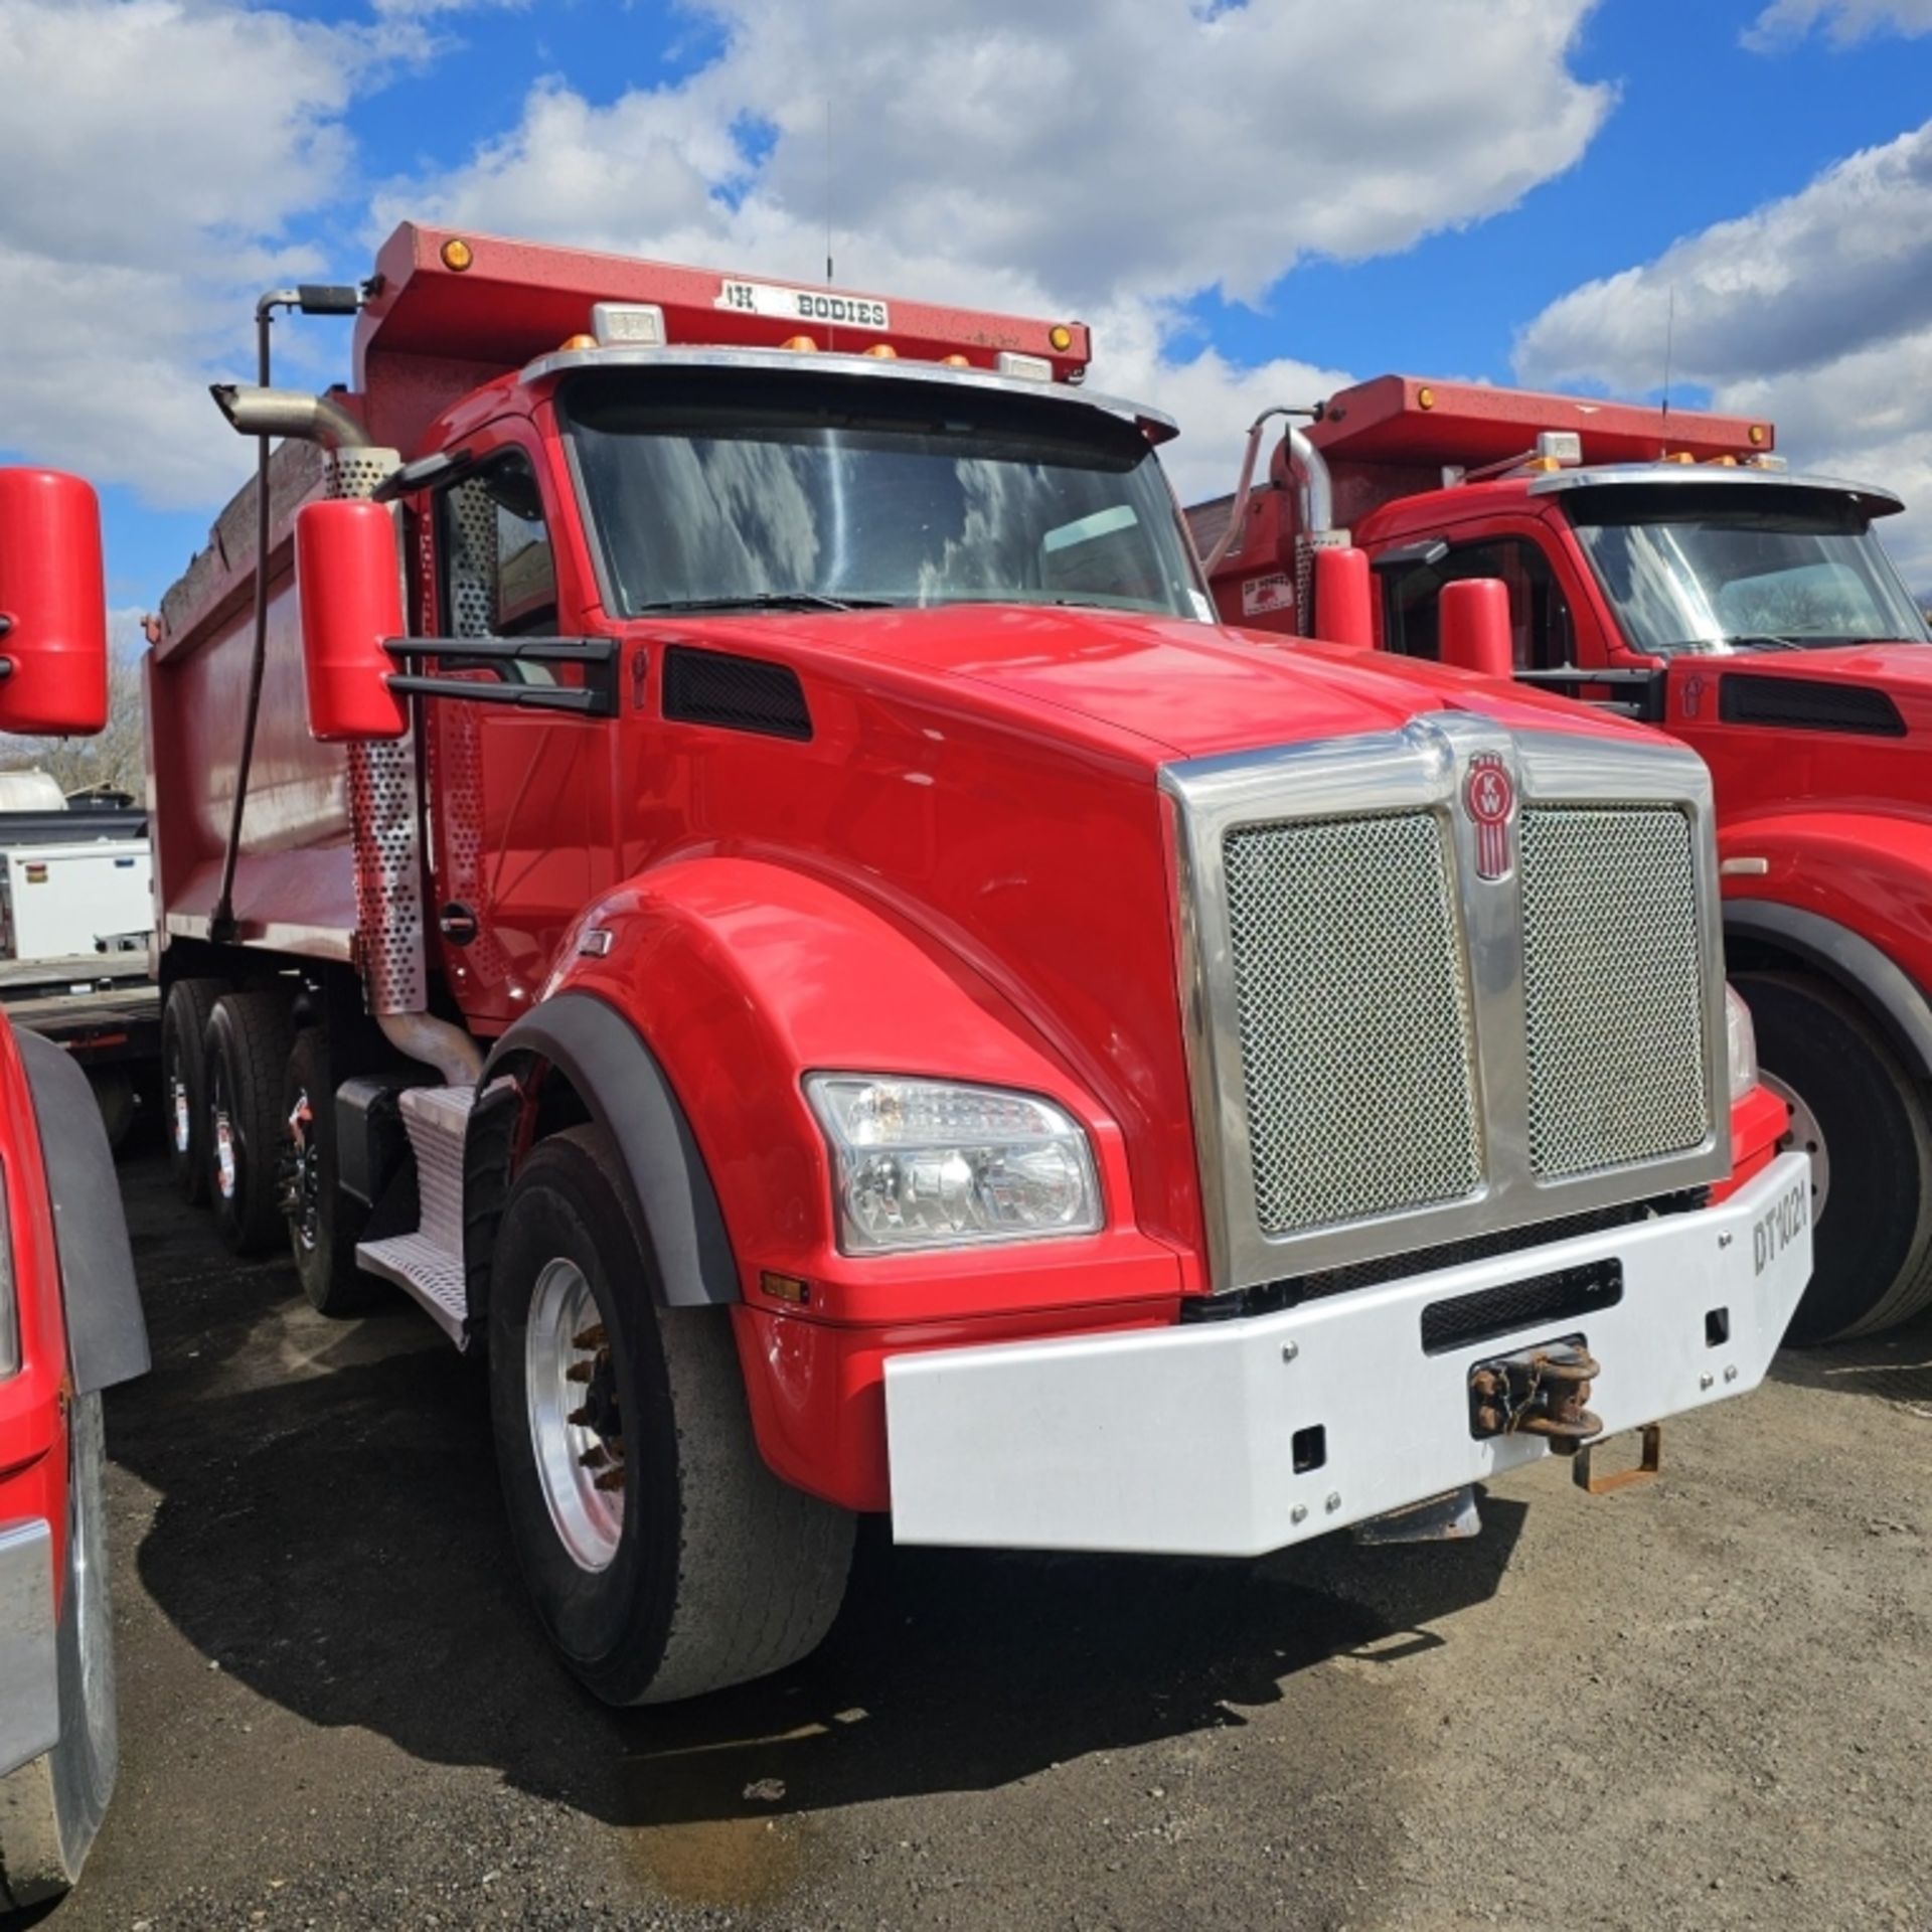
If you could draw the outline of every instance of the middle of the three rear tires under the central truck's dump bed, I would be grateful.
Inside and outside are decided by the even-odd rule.
[[[284,1233],[278,1117],[294,1030],[278,991],[222,993],[209,1016],[207,1175],[214,1229],[230,1254],[267,1254]]]

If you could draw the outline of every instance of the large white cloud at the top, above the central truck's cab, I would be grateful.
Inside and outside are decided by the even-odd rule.
[[[545,83],[383,209],[707,253],[788,230],[817,259],[829,199],[842,278],[945,257],[1059,303],[1248,299],[1304,255],[1401,249],[1571,166],[1611,99],[1567,66],[1588,8],[989,0],[933,29],[889,0],[711,0],[724,52],[690,79],[601,106]]]

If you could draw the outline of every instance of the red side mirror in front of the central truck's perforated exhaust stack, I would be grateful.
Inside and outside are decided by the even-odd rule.
[[[309,736],[323,744],[400,738],[406,699],[383,645],[402,636],[402,568],[388,510],[363,498],[296,512],[296,595]]]

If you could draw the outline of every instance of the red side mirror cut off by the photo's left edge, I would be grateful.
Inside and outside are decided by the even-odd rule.
[[[108,721],[100,504],[58,469],[0,469],[0,732],[91,736]]]

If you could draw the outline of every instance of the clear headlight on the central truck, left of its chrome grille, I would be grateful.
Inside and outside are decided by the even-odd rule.
[[[1051,1101],[893,1074],[810,1074],[806,1097],[833,1150],[844,1254],[1099,1227],[1094,1150]]]

